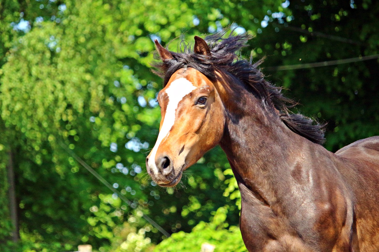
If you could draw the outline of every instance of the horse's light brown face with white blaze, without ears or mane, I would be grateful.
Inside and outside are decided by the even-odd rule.
[[[224,131],[224,110],[213,83],[194,68],[175,72],[158,94],[160,132],[146,159],[158,185],[179,183],[183,171],[217,145]]]

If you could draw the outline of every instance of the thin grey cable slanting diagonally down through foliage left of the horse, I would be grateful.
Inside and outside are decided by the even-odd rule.
[[[99,179],[106,187],[108,187],[113,193],[116,193],[117,196],[124,201],[126,204],[128,204],[131,208],[136,209],[137,206],[133,205],[132,201],[128,200],[123,194],[121,194],[119,191],[117,191],[111,184],[108,183],[102,176],[100,176],[99,173],[97,173],[94,169],[91,168],[83,159],[81,159],[77,154],[75,154],[74,151],[67,148],[64,143],[60,143],[63,149],[65,149],[75,160],[77,160],[84,168],[86,168],[90,173],[92,173],[93,176],[95,176],[97,179]],[[164,236],[170,237],[170,234],[163,229],[163,227],[159,226],[159,224],[155,221],[153,221],[152,218],[142,213],[142,217],[146,219],[150,224],[152,224],[156,229],[158,229]]]

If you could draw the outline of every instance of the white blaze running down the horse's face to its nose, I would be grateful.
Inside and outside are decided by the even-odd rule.
[[[155,165],[155,154],[157,154],[157,150],[162,140],[168,136],[170,129],[174,125],[175,121],[175,112],[178,107],[178,104],[181,100],[183,100],[184,96],[191,93],[195,86],[192,85],[188,79],[179,78],[175,79],[175,81],[171,82],[170,86],[165,90],[168,96],[168,104],[166,108],[166,114],[164,115],[164,121],[162,124],[162,128],[158,134],[157,142],[154,145],[154,148],[151,151],[149,161],[147,164],[149,168],[153,171],[153,173],[158,172],[158,168]]]

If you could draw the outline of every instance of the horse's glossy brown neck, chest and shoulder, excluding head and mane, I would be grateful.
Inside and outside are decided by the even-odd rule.
[[[246,89],[229,88],[228,96],[222,88],[226,124],[220,145],[240,188],[247,249],[332,251],[336,237],[349,247],[353,197],[345,178],[352,177],[351,166],[291,131]]]

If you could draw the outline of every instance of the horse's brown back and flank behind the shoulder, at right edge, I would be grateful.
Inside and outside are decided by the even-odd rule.
[[[379,136],[351,143],[335,152],[354,194],[353,251],[379,251]],[[355,241],[354,241],[355,240]]]

